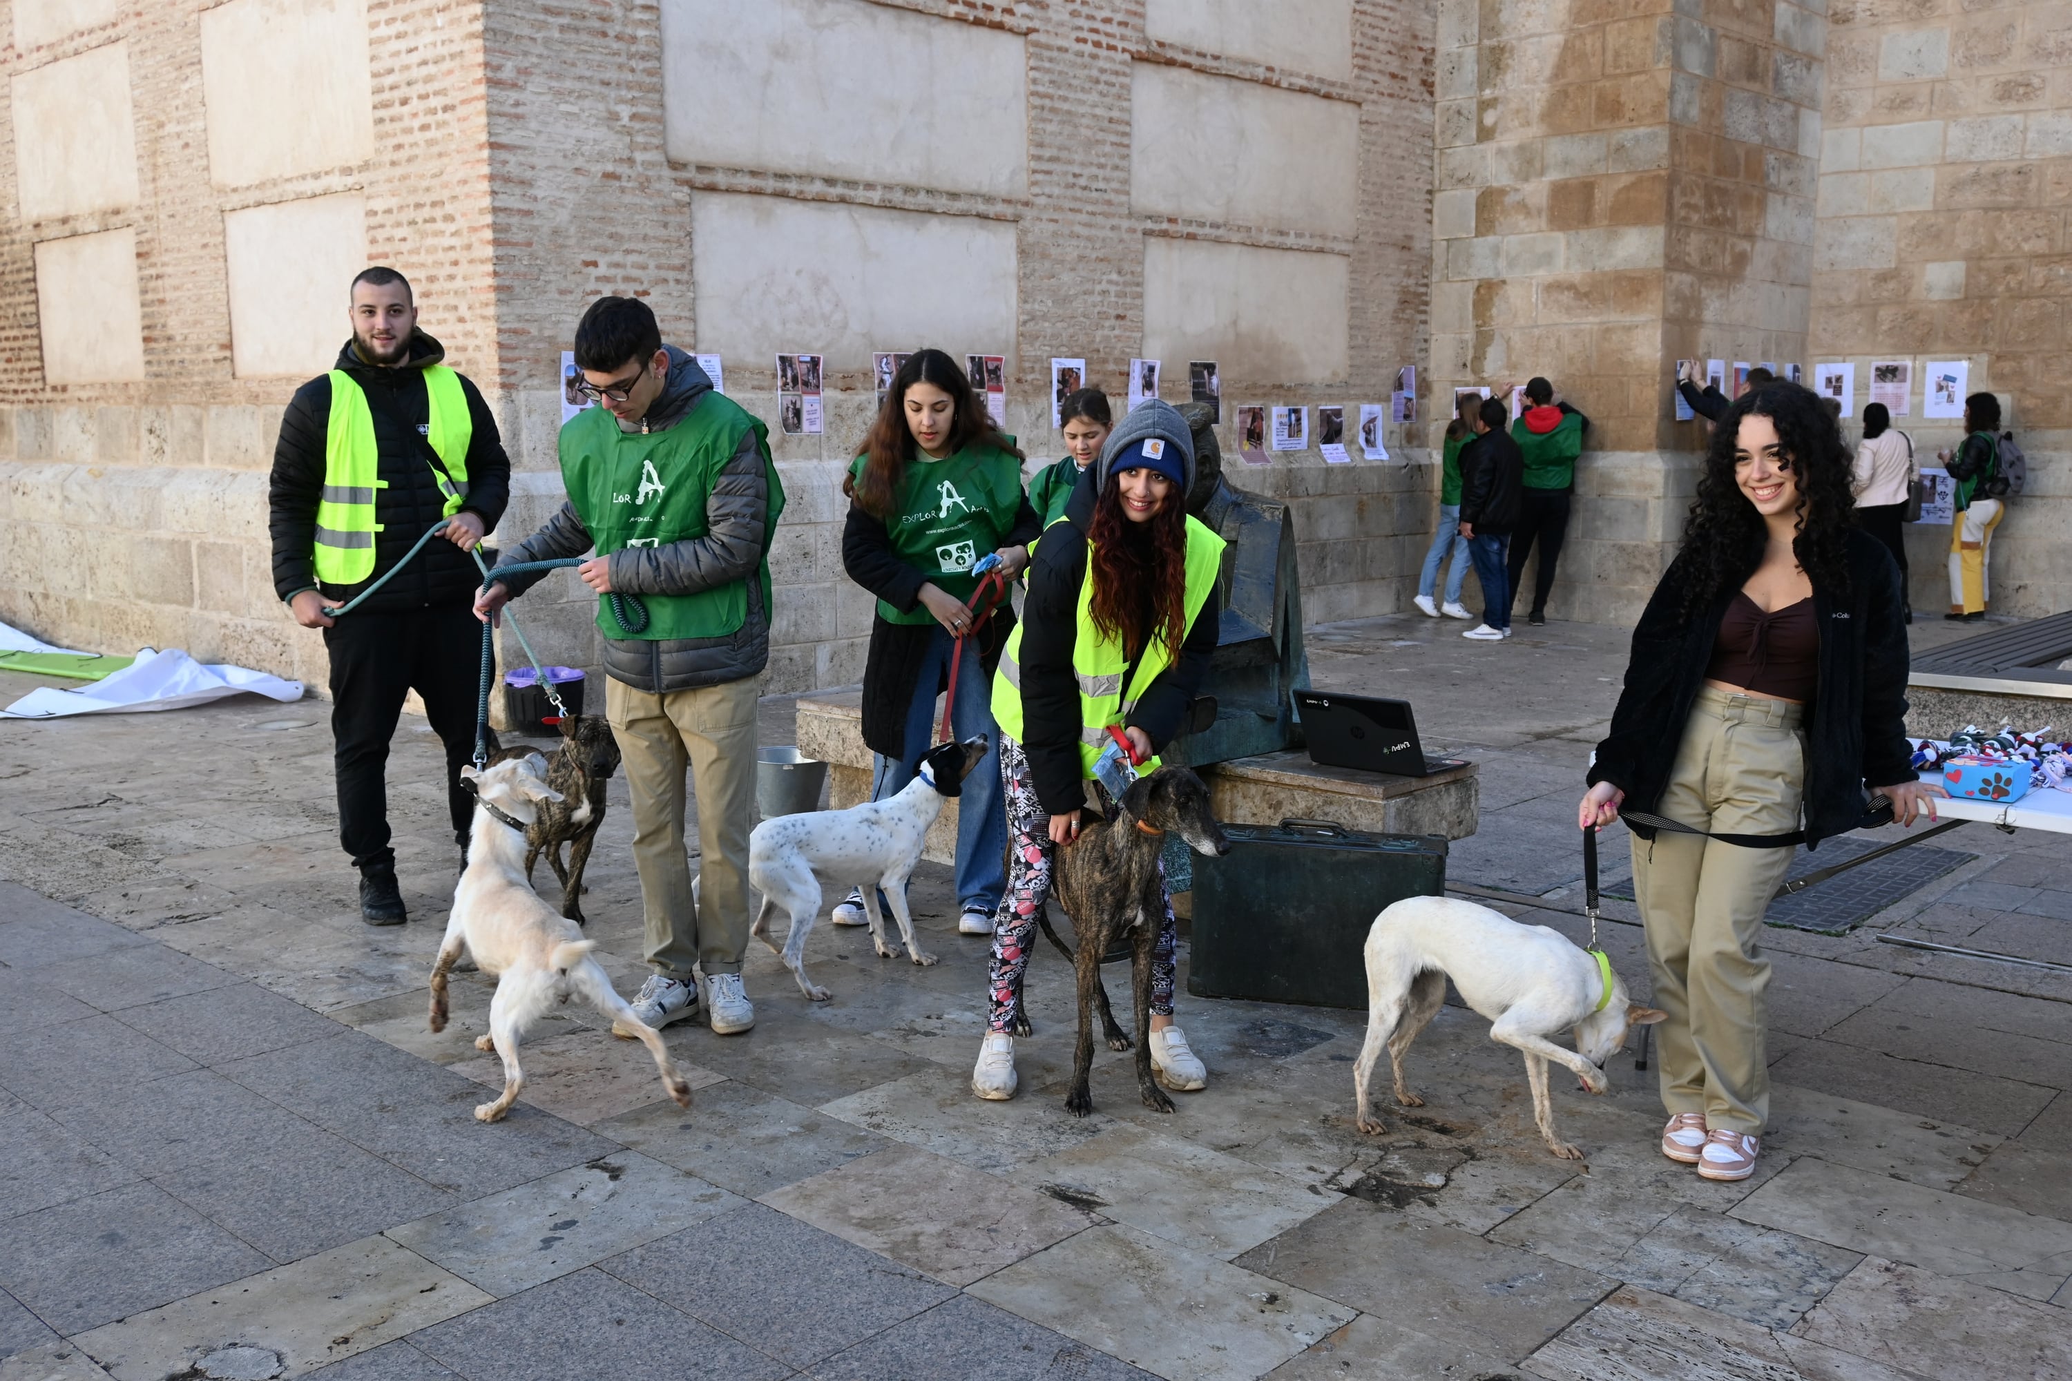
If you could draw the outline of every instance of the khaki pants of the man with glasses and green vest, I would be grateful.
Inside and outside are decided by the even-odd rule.
[[[646,961],[688,983],[740,973],[748,946],[748,830],[756,807],[756,677],[651,696],[605,681],[605,718],[634,797]],[[698,901],[684,857],[684,768],[698,793]]]

